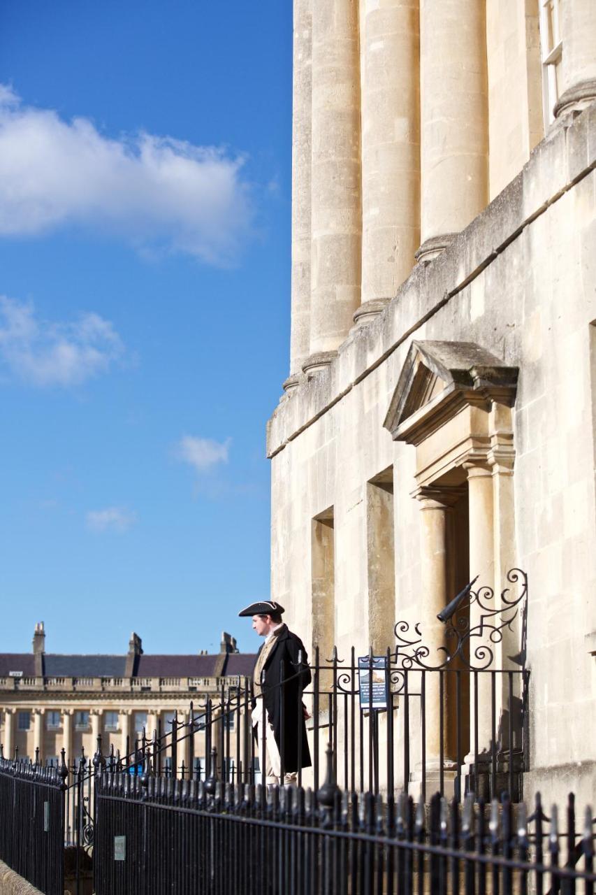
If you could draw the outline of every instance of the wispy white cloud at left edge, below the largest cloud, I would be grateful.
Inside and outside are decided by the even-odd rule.
[[[31,303],[0,295],[0,370],[34,386],[79,385],[123,355],[109,320],[83,313],[72,322],[39,320]]]

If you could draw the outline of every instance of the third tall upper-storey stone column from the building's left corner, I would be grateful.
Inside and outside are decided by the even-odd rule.
[[[420,244],[418,0],[364,4],[362,305],[368,322],[392,298]]]

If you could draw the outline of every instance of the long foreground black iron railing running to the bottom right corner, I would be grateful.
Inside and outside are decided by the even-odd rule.
[[[530,816],[508,797],[384,800],[337,788],[331,750],[318,792],[150,771],[104,771],[97,790],[97,895],[592,895],[596,882],[592,811],[576,832],[573,797],[566,830],[540,797]]]

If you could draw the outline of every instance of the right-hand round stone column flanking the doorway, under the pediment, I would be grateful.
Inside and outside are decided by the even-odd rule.
[[[471,460],[464,464],[468,475],[468,499],[470,514],[470,575],[478,575],[476,589],[493,587],[495,583],[495,542],[494,542],[494,501],[492,470],[485,459]],[[470,627],[480,626],[482,609],[477,603],[470,607]],[[490,632],[470,638],[470,664],[483,667],[487,664],[490,651],[494,655],[494,644],[490,642]],[[466,762],[473,763],[474,731],[478,729],[478,752],[482,759],[490,757],[492,735],[490,717],[490,674],[479,672],[477,676],[478,718],[475,711],[474,677],[470,679],[470,753]],[[498,722],[498,719],[497,719]]]

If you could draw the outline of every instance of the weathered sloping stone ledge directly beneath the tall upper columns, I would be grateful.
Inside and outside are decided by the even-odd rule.
[[[376,370],[594,166],[596,103],[549,132],[520,174],[447,249],[429,264],[416,265],[387,308],[368,326],[353,328],[336,358],[292,389],[268,420],[267,456],[283,450]]]

